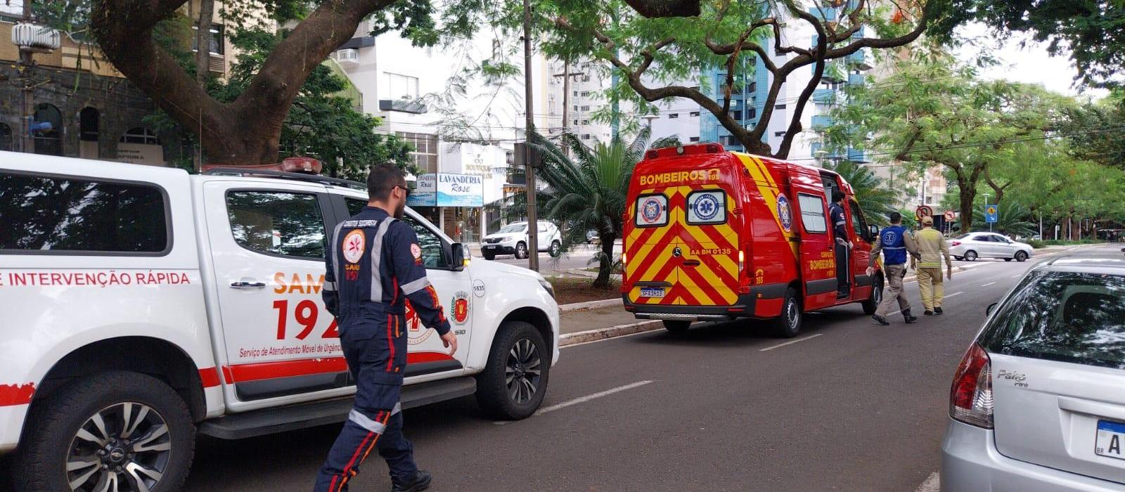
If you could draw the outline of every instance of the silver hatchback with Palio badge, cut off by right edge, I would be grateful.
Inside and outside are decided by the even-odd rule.
[[[953,381],[943,491],[1125,491],[1125,255],[1095,252],[989,308]]]

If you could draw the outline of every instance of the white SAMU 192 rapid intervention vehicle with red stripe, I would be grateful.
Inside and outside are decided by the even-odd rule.
[[[197,432],[341,422],[354,391],[321,301],[325,236],[367,202],[318,175],[0,152],[0,454],[19,491],[170,491]],[[407,313],[403,407],[539,407],[559,309],[529,270],[469,262],[407,210],[458,335]]]

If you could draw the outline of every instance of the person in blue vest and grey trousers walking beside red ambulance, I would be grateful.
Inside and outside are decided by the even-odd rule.
[[[871,249],[871,259],[867,261],[867,276],[875,273],[875,261],[879,259],[879,252],[883,252],[883,273],[886,275],[886,295],[875,308],[875,313],[871,317],[875,322],[888,326],[886,313],[898,301],[902,318],[907,324],[918,321],[918,317],[910,315],[910,301],[902,292],[902,279],[907,276],[907,255],[917,257],[918,246],[915,245],[914,237],[907,234],[907,228],[902,227],[902,215],[891,212],[889,219],[891,225],[883,228],[875,239],[875,245]]]

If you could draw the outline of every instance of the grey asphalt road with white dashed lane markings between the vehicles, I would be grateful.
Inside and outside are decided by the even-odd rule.
[[[946,313],[917,325],[850,306],[790,340],[731,322],[567,347],[541,414],[498,425],[467,398],[406,411],[406,432],[435,491],[912,492],[938,470],[986,308],[1032,263],[955,273]],[[307,491],[338,430],[202,439],[187,490]],[[352,484],[389,489],[386,465],[372,456]]]

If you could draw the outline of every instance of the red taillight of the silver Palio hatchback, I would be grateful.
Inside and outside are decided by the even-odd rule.
[[[992,363],[978,344],[969,347],[953,377],[950,417],[972,426],[992,428]]]

